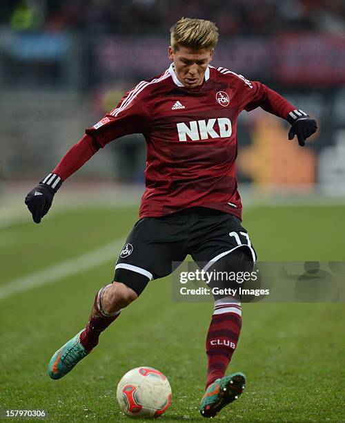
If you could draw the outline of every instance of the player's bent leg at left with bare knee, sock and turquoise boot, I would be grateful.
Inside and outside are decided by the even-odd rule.
[[[179,243],[168,243],[168,247],[165,244],[171,239],[170,231],[164,219],[145,218],[135,224],[117,260],[115,281],[97,292],[86,328],[50,359],[48,370],[52,379],[66,375],[97,346],[101,332],[139,297],[151,279],[169,274],[172,261],[184,260]],[[158,234],[157,239],[154,234]]]

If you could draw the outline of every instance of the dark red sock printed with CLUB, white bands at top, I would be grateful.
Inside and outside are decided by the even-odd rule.
[[[241,303],[234,299],[219,299],[208,328],[206,354],[208,358],[206,388],[223,377],[237,346],[242,326]]]

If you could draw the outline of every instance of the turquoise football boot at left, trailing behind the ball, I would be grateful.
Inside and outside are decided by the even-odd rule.
[[[48,373],[52,379],[60,379],[60,377],[67,375],[83,357],[90,353],[79,341],[81,332],[83,330],[66,342],[50,359]]]

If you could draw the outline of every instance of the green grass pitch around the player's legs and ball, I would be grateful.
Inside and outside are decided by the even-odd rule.
[[[344,261],[344,206],[251,207],[244,227],[259,259]],[[137,209],[52,212],[41,225],[0,231],[1,283],[73,259],[125,237]],[[1,299],[1,409],[46,409],[50,422],[126,421],[115,392],[127,370],[152,366],[172,386],[164,422],[204,421],[204,344],[210,303],[172,302],[171,279],[153,281],[139,301],[101,335],[99,346],[58,381],[52,353],[85,326],[95,292],[112,279],[114,259]],[[1,288],[1,286],[0,286]],[[244,304],[239,345],[229,371],[248,378],[223,421],[344,421],[344,304]]]

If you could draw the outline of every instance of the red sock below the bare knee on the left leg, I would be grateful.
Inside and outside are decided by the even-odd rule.
[[[101,288],[99,292],[97,292],[88,324],[86,325],[86,328],[83,330],[83,332],[81,332],[80,334],[79,339],[81,345],[88,351],[91,351],[92,348],[95,348],[95,346],[97,346],[99,341],[99,335],[101,335],[101,332],[108,328],[110,323],[117,319],[121,312],[121,310],[119,310],[115,313],[108,313],[102,307],[101,299],[104,290],[106,290],[108,286],[109,285],[103,286],[103,288]]]

